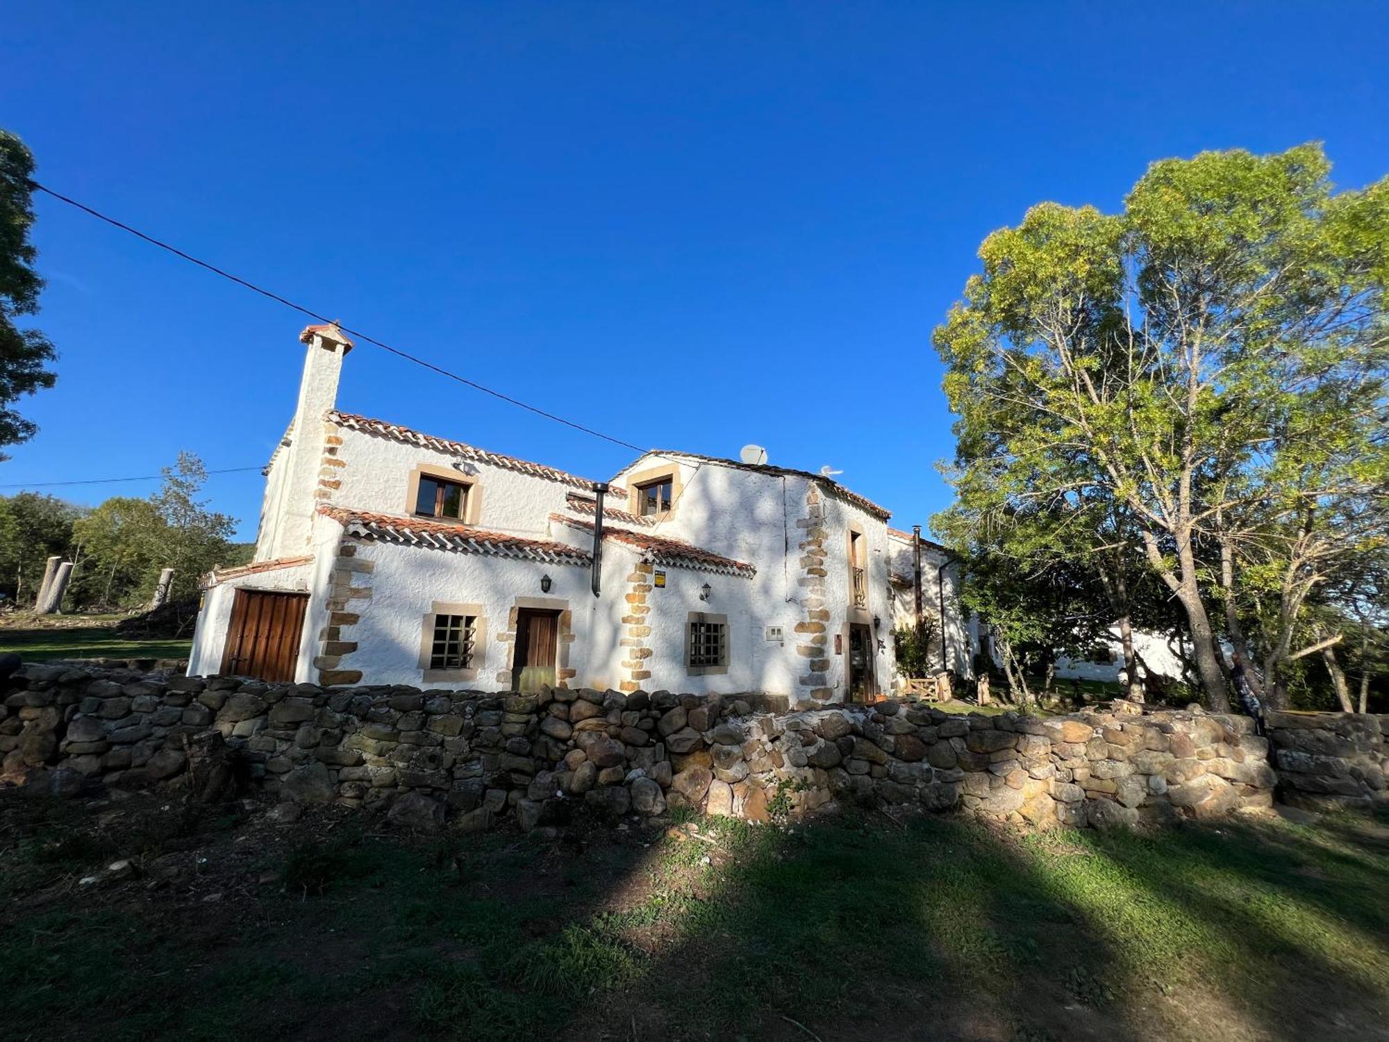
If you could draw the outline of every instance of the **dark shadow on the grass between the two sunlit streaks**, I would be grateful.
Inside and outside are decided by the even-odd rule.
[[[749,836],[649,970],[624,1038],[1140,1039],[1113,941],[964,818],[818,821]],[[608,1017],[615,1010],[610,1009]],[[592,1038],[603,1017],[565,1038]]]

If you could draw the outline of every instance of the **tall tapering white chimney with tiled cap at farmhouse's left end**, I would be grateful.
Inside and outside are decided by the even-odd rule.
[[[353,347],[336,322],[306,326],[299,342],[308,345],[304,375],[299,381],[294,420],[285,435],[283,458],[275,463],[265,486],[264,539],[257,546],[257,559],[294,557],[310,549],[319,502],[314,492],[328,436],[325,417],[338,404],[343,357]]]

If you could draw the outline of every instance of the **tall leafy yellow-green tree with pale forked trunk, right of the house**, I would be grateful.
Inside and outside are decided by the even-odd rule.
[[[960,513],[986,531],[1029,502],[1126,511],[1221,709],[1203,549],[1389,486],[1389,179],[1336,195],[1328,174],[1318,146],[1204,153],[1153,164],[1117,215],[1036,206],[983,242],[935,335]]]

